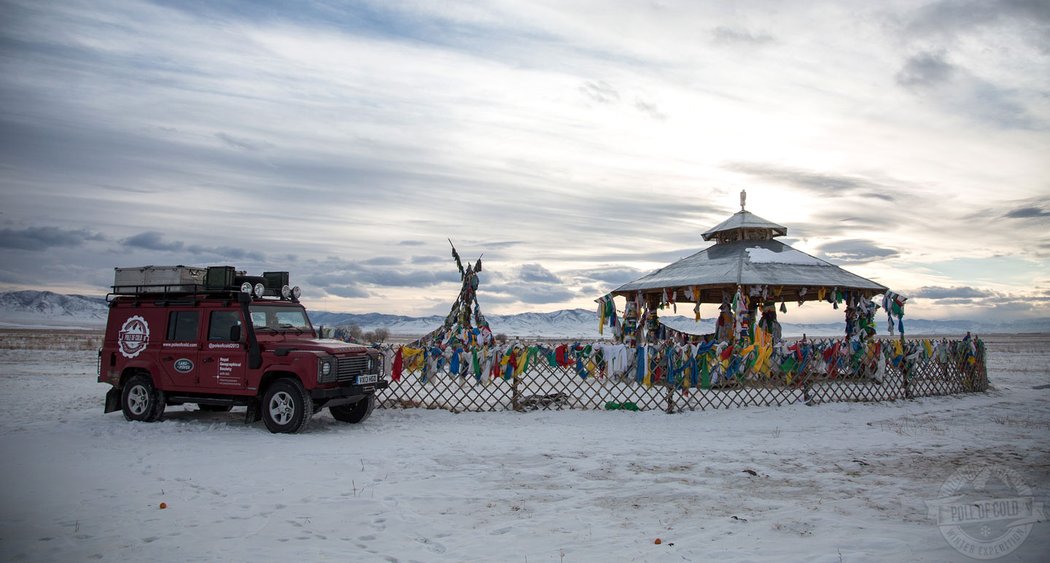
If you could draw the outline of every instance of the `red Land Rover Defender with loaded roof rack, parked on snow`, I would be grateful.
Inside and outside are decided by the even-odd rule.
[[[377,350],[319,338],[288,272],[229,266],[117,268],[99,382],[105,412],[160,420],[168,404],[247,406],[274,433],[296,433],[328,406],[360,422],[384,389]]]

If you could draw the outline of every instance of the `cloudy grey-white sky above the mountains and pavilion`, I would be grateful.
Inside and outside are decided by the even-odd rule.
[[[486,312],[590,309],[746,188],[908,316],[1050,316],[1050,2],[790,6],[0,0],[0,289],[443,313],[450,237]]]

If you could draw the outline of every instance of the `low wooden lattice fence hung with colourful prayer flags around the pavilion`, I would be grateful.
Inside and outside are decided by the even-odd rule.
[[[383,408],[453,412],[674,413],[895,400],[988,389],[980,338],[803,339],[764,348],[663,343],[643,350],[579,342],[509,342],[459,351],[386,348],[391,384],[378,399]]]

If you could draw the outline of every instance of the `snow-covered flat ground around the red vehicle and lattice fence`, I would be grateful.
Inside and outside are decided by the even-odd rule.
[[[92,351],[3,338],[3,561],[961,561],[926,504],[961,467],[1050,506],[1050,337],[989,338],[994,389],[972,396],[326,412],[302,435],[103,415]],[[1042,521],[1004,561],[1047,554]]]

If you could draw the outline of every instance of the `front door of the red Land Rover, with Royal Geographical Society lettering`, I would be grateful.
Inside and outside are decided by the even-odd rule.
[[[236,309],[208,313],[208,340],[201,350],[201,387],[230,393],[245,389],[248,352],[244,326]]]

